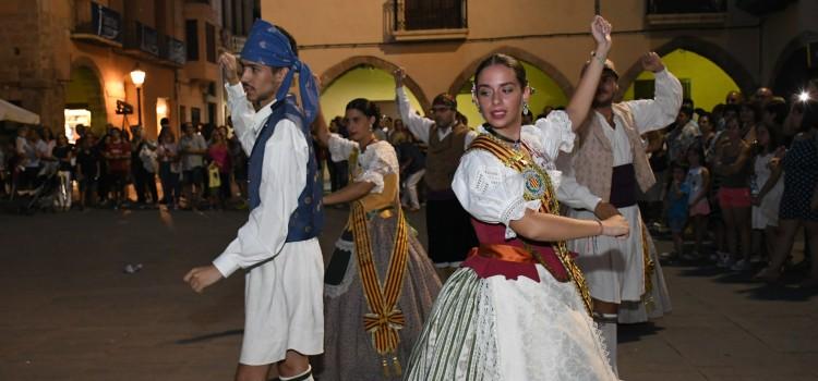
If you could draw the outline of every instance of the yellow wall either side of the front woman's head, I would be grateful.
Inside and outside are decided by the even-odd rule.
[[[522,66],[526,67],[526,77],[528,78],[529,85],[534,88],[534,95],[531,96],[529,102],[529,107],[534,116],[542,112],[542,109],[545,106],[557,107],[568,105],[568,98],[554,79],[528,62],[522,62]],[[474,77],[472,76],[467,85],[468,88],[471,88],[471,83],[473,81]],[[470,126],[477,126],[478,124],[483,123],[483,116],[480,115],[477,106],[471,101],[471,94],[462,94],[462,91],[461,94],[458,94],[457,108],[469,119]]]

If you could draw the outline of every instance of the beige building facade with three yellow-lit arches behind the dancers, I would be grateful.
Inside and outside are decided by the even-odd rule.
[[[808,72],[806,46],[818,40],[811,0],[262,0],[261,9],[296,36],[321,76],[326,115],[342,114],[353,95],[388,105],[389,72],[402,66],[419,108],[440,93],[458,94],[461,110],[479,120],[470,77],[494,52],[544,78],[534,112],[564,106],[593,48],[588,30],[598,9],[614,25],[610,58],[622,74],[621,96],[649,96],[638,59],[657,51],[706,109],[729,90],[792,91]]]

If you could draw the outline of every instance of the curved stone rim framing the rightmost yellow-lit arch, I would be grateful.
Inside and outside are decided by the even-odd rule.
[[[730,54],[722,47],[693,36],[679,36],[672,39],[670,42],[660,46],[653,51],[660,57],[666,56],[677,49],[683,49],[697,53],[721,67],[727,75],[735,81],[738,87],[744,94],[751,94],[755,91],[758,84],[753,78],[753,75],[744,67],[744,65]],[[642,66],[637,60],[627,71],[621,72],[619,75],[619,94],[618,98],[627,90],[636,78],[641,74]]]

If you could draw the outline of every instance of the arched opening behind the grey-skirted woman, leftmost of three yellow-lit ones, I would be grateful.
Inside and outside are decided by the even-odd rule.
[[[325,84],[321,93],[324,118],[342,116],[347,103],[356,98],[374,101],[382,114],[400,118],[395,105],[395,79],[392,75],[397,67],[375,57],[353,57],[328,69],[322,75],[322,83]],[[412,108],[423,114],[429,101],[420,87],[409,76],[405,85]]]

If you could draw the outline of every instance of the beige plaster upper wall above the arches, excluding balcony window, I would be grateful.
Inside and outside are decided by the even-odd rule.
[[[476,60],[508,49],[536,58],[529,58],[529,62],[548,63],[546,72],[570,94],[582,63],[593,50],[588,34],[594,12],[591,1],[468,1],[466,39],[406,44],[393,39],[392,4],[392,1],[349,0],[337,7],[337,1],[314,0],[308,7],[299,1],[261,0],[261,13],[262,19],[280,24],[296,36],[300,56],[314,73],[323,75],[352,57],[374,57],[405,67],[429,99],[449,91],[454,82],[467,77],[470,73],[464,73],[473,70]],[[645,0],[602,0],[600,4],[615,30],[627,30],[615,35],[615,48],[609,57],[623,72],[646,51],[657,50],[678,36],[695,36],[723,47],[748,73],[760,72],[758,29],[730,27],[756,22],[746,20],[742,12],[731,11],[724,29],[690,25],[659,33],[645,24]],[[333,11],[310,11],[316,9]],[[767,57],[763,60],[774,61]],[[468,99],[458,103],[466,108]],[[469,119],[471,122],[473,118]]]

